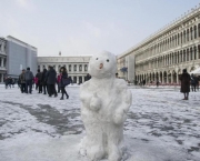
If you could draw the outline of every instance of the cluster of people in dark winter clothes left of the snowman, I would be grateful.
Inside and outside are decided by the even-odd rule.
[[[72,80],[68,77],[66,67],[60,68],[58,77],[56,70],[51,66],[48,67],[48,70],[43,69],[42,72],[38,69],[36,77],[33,77],[30,68],[27,68],[27,70],[23,69],[19,76],[19,84],[22,93],[31,94],[32,87],[36,84],[38,93],[48,94],[49,97],[58,97],[58,92],[61,91],[62,95],[60,100],[63,100],[64,95],[69,99],[69,94],[66,91],[66,85],[69,83],[72,83]],[[58,84],[58,92],[56,90],[56,84]]]

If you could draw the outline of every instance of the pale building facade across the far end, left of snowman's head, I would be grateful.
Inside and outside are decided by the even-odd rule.
[[[61,67],[66,67],[68,70],[68,76],[71,77],[74,83],[84,82],[86,76],[88,73],[88,64],[90,56],[81,57],[38,57],[38,69],[43,71],[52,66],[57,73]]]

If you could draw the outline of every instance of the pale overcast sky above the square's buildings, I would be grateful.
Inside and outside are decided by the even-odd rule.
[[[200,0],[0,0],[0,37],[38,48],[38,56],[120,54]]]

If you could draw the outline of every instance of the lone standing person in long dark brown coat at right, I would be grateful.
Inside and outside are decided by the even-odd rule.
[[[190,74],[187,72],[187,69],[182,70],[180,81],[181,81],[180,92],[182,92],[184,94],[183,100],[188,100],[189,92],[190,92]]]

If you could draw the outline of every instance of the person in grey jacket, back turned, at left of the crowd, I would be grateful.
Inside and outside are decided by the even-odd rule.
[[[24,73],[26,78],[26,93],[32,93],[32,80],[33,80],[33,74],[32,71],[30,71],[30,68],[27,68],[27,71]]]

